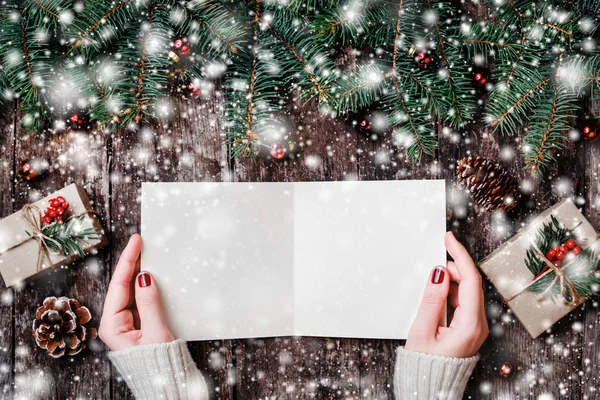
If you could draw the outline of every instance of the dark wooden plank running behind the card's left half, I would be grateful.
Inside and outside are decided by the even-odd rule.
[[[229,176],[218,123],[219,97],[173,99],[156,125],[120,129],[112,143],[113,268],[129,236],[140,228],[141,182],[219,181]],[[189,349],[207,378],[212,397],[231,399],[233,352],[230,341],[193,342]],[[130,398],[119,377],[113,398]]]

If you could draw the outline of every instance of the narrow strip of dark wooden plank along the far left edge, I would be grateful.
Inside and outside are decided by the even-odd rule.
[[[4,104],[0,108],[0,216],[13,213],[14,197],[14,146],[15,105]],[[0,282],[0,390],[3,398],[13,396],[14,370],[14,321],[13,291]]]

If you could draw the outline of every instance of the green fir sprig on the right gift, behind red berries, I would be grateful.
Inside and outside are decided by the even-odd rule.
[[[553,261],[547,255],[556,246],[570,240],[578,243],[575,233],[578,226],[579,224],[572,229],[566,228],[551,215],[550,221],[540,228],[535,246],[532,245],[526,252],[525,265],[534,275],[534,281],[527,290],[542,293],[552,286],[549,291],[550,297],[554,299],[562,296],[567,302],[573,302],[576,294],[586,299],[600,294],[600,258],[590,249],[581,248],[579,254],[571,254],[562,265],[554,262],[555,269],[563,272],[565,280],[572,284],[576,293],[569,289],[569,285],[557,283],[555,269],[548,271],[548,262]]]

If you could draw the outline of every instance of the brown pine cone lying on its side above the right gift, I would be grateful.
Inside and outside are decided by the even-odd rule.
[[[456,168],[458,180],[477,203],[489,209],[510,211],[521,198],[519,182],[499,164],[477,157],[465,157]]]

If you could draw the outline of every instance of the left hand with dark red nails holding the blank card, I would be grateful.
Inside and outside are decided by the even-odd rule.
[[[112,351],[175,340],[165,322],[154,278],[139,272],[141,250],[142,237],[134,234],[110,280],[98,336]]]

